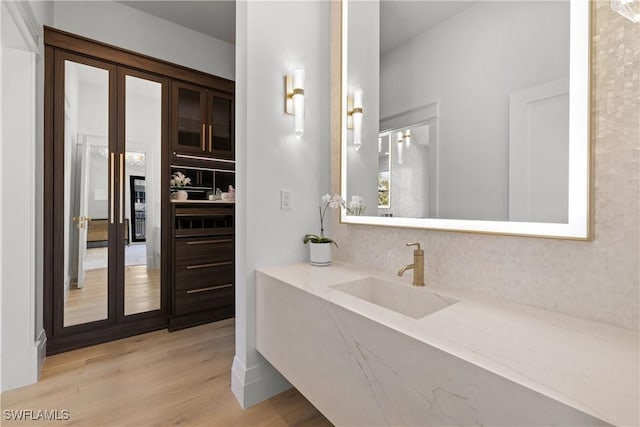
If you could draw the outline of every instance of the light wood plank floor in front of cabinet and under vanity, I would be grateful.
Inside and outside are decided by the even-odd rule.
[[[233,319],[50,356],[41,381],[2,393],[2,410],[69,411],[52,426],[331,426],[294,389],[242,410],[231,392]],[[2,420],[2,425],[17,422]]]

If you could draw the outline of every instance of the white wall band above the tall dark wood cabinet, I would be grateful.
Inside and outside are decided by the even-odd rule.
[[[115,1],[56,1],[53,26],[233,80],[233,45]]]

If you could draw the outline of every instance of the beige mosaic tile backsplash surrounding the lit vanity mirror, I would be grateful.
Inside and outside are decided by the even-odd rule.
[[[592,19],[593,241],[346,225],[334,215],[331,234],[340,244],[334,257],[397,271],[412,259],[404,244],[420,241],[427,283],[639,329],[640,25],[611,11],[605,1],[596,2]],[[334,19],[332,25],[339,23]],[[332,57],[336,52],[339,41],[333,40]],[[339,81],[339,67],[333,66],[333,99]],[[337,190],[335,102],[332,111]]]

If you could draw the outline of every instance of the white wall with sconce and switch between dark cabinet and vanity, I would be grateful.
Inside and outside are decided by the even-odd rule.
[[[255,349],[255,270],[306,261],[302,236],[319,231],[329,192],[329,2],[236,6],[236,356],[232,389],[243,407],[288,388]],[[284,75],[306,71],[305,133],[284,113]],[[280,210],[280,189],[292,209]],[[329,230],[330,233],[330,230]]]

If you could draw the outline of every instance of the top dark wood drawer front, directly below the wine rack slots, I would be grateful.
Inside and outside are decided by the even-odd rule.
[[[176,269],[219,261],[233,261],[233,236],[176,239]]]

